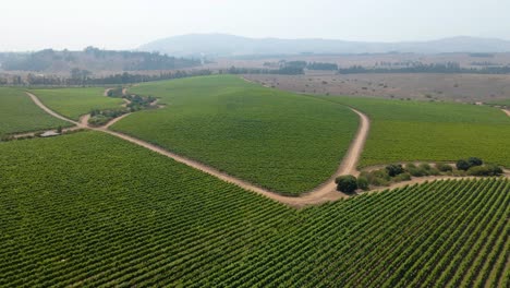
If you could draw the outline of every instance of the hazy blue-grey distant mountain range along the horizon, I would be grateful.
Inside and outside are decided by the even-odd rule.
[[[365,43],[332,39],[247,38],[227,34],[189,34],[142,45],[138,50],[172,56],[244,56],[299,53],[447,53],[510,52],[510,41],[496,38],[452,37],[432,41]]]

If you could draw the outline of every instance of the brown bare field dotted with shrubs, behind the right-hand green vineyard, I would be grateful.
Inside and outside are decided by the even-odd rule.
[[[331,74],[245,75],[284,91],[306,94],[491,103],[510,99],[510,75],[487,74]]]

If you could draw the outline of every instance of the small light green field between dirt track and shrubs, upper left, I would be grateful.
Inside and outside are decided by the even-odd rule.
[[[80,120],[82,115],[94,109],[119,108],[122,99],[105,97],[105,88],[33,89],[39,99],[53,111]]]

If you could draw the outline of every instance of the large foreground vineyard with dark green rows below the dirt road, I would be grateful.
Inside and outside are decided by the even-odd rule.
[[[509,287],[510,182],[292,209],[99,132],[0,143],[1,287]]]

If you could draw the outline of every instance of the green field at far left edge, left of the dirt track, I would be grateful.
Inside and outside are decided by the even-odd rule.
[[[0,136],[59,125],[69,123],[47,115],[23,91],[0,87]]]

